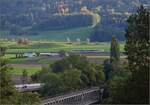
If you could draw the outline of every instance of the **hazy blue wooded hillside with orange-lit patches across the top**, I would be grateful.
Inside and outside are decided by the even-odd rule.
[[[64,40],[64,35],[60,32],[72,30],[69,31],[68,37],[75,39],[74,35],[77,34],[75,31],[78,28],[81,30],[78,38],[83,39],[85,33],[82,32],[85,31],[85,27],[92,26],[92,31],[89,30],[90,32],[86,32],[85,35],[91,41],[109,41],[112,35],[124,40],[125,21],[130,14],[135,13],[140,4],[148,7],[150,1],[0,0],[0,36],[47,38],[45,33],[55,31],[55,34],[50,32],[49,39],[57,40],[53,39],[53,36],[57,35],[59,40]]]

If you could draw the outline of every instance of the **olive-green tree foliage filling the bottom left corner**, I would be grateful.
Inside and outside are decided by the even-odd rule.
[[[37,93],[19,93],[11,81],[7,60],[3,57],[5,48],[0,47],[0,104],[28,104],[40,103]]]

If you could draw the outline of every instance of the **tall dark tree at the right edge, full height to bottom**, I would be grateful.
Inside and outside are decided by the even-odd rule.
[[[149,103],[149,16],[150,11],[141,6],[127,20],[125,50],[132,72],[126,88],[128,103]]]

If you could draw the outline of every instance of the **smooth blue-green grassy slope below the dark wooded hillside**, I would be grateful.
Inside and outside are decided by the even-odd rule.
[[[78,27],[73,29],[52,30],[52,31],[37,31],[36,35],[9,35],[9,32],[1,32],[1,38],[19,39],[28,38],[33,40],[50,40],[50,41],[82,41],[87,40],[94,29],[92,27]]]

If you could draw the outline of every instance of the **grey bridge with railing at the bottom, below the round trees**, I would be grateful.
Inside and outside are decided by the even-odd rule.
[[[102,100],[103,91],[104,88],[92,87],[82,91],[45,99],[42,101],[42,105],[90,105]]]

